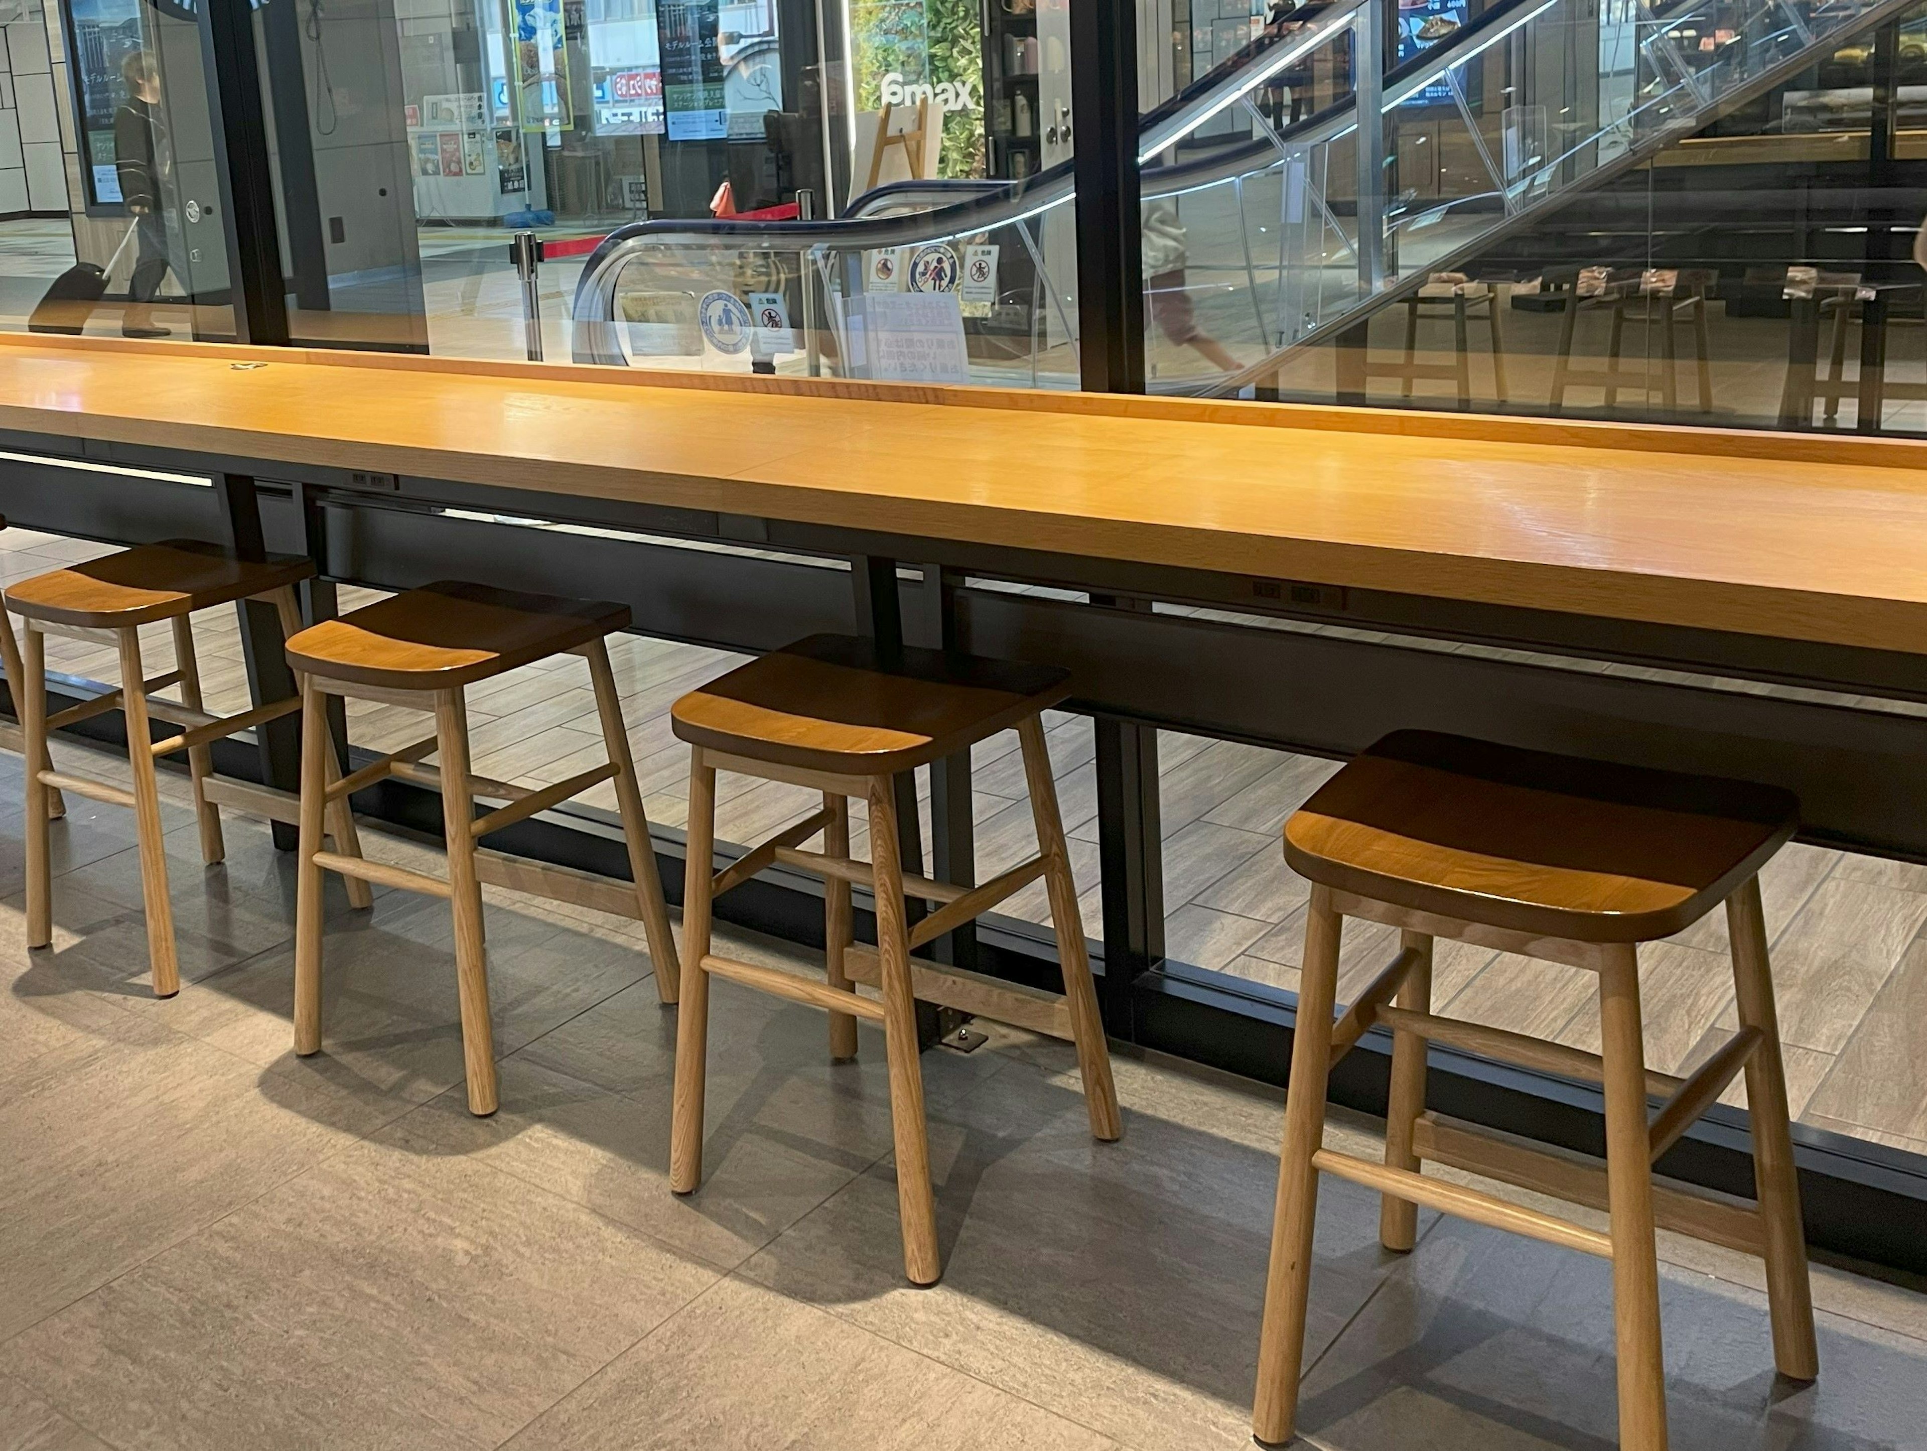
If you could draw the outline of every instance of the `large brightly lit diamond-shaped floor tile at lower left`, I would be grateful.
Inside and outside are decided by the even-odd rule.
[[[12,1368],[119,1445],[503,1438],[717,1272],[383,1131],[19,1335]]]

